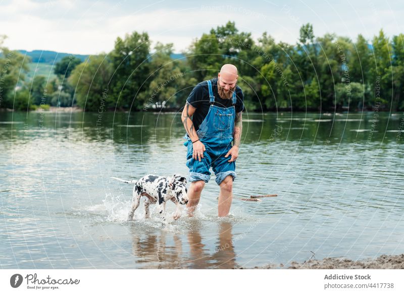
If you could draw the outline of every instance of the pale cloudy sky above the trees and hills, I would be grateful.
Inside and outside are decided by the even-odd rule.
[[[404,33],[404,2],[368,1],[179,1],[179,0],[0,0],[0,35],[12,50],[50,50],[95,55],[110,52],[118,36],[147,32],[153,44],[174,43],[187,50],[192,40],[234,21],[239,31],[258,39],[296,43],[302,24],[316,36],[336,33],[368,40],[383,28],[391,37]]]

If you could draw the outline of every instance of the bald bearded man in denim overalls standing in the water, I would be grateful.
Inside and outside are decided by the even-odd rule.
[[[229,214],[244,109],[243,92],[236,85],[237,79],[237,68],[232,64],[223,65],[217,78],[193,88],[182,111],[191,182],[187,204],[190,216],[205,183],[210,180],[211,167],[220,186],[218,216]]]

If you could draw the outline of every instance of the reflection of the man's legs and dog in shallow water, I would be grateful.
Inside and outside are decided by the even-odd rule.
[[[218,224],[215,250],[209,249],[212,239],[205,240],[200,230],[202,221],[187,220],[189,229],[186,238],[167,230],[139,232],[136,224],[130,228],[132,254],[140,268],[191,268],[191,269],[232,269],[237,268],[233,245],[233,225],[231,222]],[[183,244],[183,241],[187,244]],[[137,268],[137,266],[136,266]]]

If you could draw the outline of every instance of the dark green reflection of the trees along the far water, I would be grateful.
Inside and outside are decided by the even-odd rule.
[[[2,113],[0,136],[10,139],[10,130],[18,139],[47,134],[58,140],[104,143],[112,140],[125,145],[166,144],[181,140],[184,129],[177,113],[105,113],[102,119],[93,113]],[[395,141],[402,114],[373,113],[312,114],[265,113],[245,115],[243,144],[295,141],[302,145],[349,143],[353,141]],[[34,131],[34,133],[32,133]],[[402,143],[402,142],[401,142]]]

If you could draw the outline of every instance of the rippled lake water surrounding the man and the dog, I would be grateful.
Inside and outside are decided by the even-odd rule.
[[[378,114],[375,119],[375,114]],[[97,125],[98,120],[98,125]],[[404,253],[402,113],[243,115],[231,214],[127,222],[132,185],[188,174],[176,113],[0,113],[0,268],[233,268]],[[236,198],[277,193],[245,202]],[[314,254],[314,256],[313,256]]]

